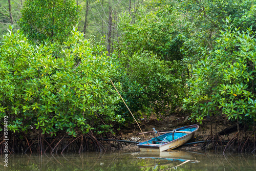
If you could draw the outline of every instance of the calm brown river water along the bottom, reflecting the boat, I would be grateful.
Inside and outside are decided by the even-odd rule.
[[[65,155],[12,155],[0,170],[256,170],[252,154],[115,152]]]

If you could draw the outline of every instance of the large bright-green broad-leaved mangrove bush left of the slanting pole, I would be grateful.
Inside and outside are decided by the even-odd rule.
[[[116,63],[75,29],[59,45],[35,46],[19,30],[4,36],[0,46],[0,118],[9,118],[11,132],[68,135],[112,131],[124,119],[116,114],[120,99],[110,78]],[[59,50],[59,51],[58,51]],[[58,57],[55,56],[58,51]]]

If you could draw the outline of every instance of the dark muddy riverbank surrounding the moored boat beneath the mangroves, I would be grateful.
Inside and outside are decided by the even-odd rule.
[[[161,116],[157,118],[156,116],[152,116],[150,118],[143,118],[140,120],[140,126],[143,132],[153,131],[155,128],[157,131],[171,131],[177,129],[179,127],[187,126],[191,123],[188,120],[188,116],[184,115],[172,115],[172,116]],[[198,123],[197,123],[198,124]],[[215,150],[224,150],[227,143],[232,139],[232,137],[237,133],[237,130],[229,131],[226,135],[218,135],[217,133],[221,133],[224,130],[232,127],[231,122],[229,122],[224,117],[219,118],[209,118],[202,122],[202,124],[198,124],[199,130],[195,133],[195,137],[191,139],[189,142],[197,142],[197,141],[206,141],[207,143],[195,143],[189,145],[182,145],[176,149],[181,151],[215,151]],[[119,139],[135,141],[135,142],[143,142],[145,138],[143,135],[138,135],[140,130],[137,124],[130,125],[129,127],[124,127],[121,129],[119,133]],[[211,135],[212,134],[212,135]],[[152,139],[153,134],[144,134],[146,139]],[[208,142],[212,141],[212,142]],[[221,142],[222,141],[222,142]],[[121,148],[120,148],[121,147]],[[236,152],[238,151],[235,143],[233,146],[228,148],[228,151]],[[127,143],[127,142],[113,142],[112,150],[121,149],[122,151],[139,151],[138,146],[135,143]]]

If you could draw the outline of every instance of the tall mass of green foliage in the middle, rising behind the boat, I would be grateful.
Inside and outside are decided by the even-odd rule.
[[[135,111],[149,114],[170,109],[173,112],[185,97],[183,89],[187,78],[179,51],[182,21],[173,7],[147,5],[162,8],[147,13],[146,8],[140,7],[135,17],[124,12],[119,18],[122,37],[115,46],[118,60],[127,73],[123,88],[127,87],[129,91],[124,94],[134,97],[135,101],[130,98],[127,101]]]

